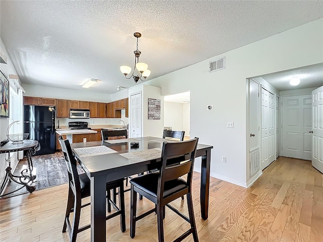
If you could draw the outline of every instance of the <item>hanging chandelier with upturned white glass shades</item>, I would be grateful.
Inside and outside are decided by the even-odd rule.
[[[139,80],[145,81],[147,77],[150,75],[150,71],[147,69],[148,65],[143,62],[139,62],[139,56],[141,54],[140,50],[138,49],[138,38],[141,37],[141,33],[134,33],[133,36],[137,38],[137,49],[134,52],[135,54],[135,66],[133,68],[133,72],[131,74],[131,77],[127,77],[129,73],[131,73],[131,67],[128,66],[121,66],[120,71],[125,75],[126,79],[133,78],[133,80],[137,83]],[[135,69],[137,69],[137,75],[134,75]],[[143,79],[142,79],[143,78]]]

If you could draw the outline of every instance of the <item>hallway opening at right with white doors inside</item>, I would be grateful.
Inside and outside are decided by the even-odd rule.
[[[247,80],[247,127],[251,132],[247,142],[250,156],[249,177],[255,173],[251,172],[254,162],[259,162],[259,169],[263,170],[279,156],[312,161],[313,157],[318,157],[316,159],[322,160],[323,169],[323,157],[319,158],[319,154],[322,156],[323,146],[322,143],[317,145],[317,141],[323,139],[322,117],[318,117],[323,116],[322,112],[319,112],[323,107],[319,105],[318,100],[319,88],[323,89],[322,84],[323,63]],[[252,85],[258,90],[257,93],[252,92]],[[316,104],[313,104],[312,97],[317,99]],[[312,107],[315,107],[315,110],[312,110]],[[313,130],[317,131],[317,134],[313,135]],[[260,147],[260,152],[254,161],[252,151],[257,146]],[[317,154],[313,154],[313,150]]]

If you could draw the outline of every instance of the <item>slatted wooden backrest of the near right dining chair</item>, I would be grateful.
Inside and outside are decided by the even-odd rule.
[[[180,142],[163,143],[163,150],[161,151],[161,168],[158,177],[157,196],[159,199],[163,197],[164,184],[166,181],[177,179],[180,176],[187,174],[186,184],[191,187],[192,184],[192,170],[194,165],[196,147],[198,138]],[[176,165],[167,165],[168,160],[177,159]]]

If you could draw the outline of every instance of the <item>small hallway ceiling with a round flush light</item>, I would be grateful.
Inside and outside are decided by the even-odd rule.
[[[261,77],[280,91],[320,87],[323,85],[323,63]],[[290,85],[292,78],[299,78],[299,85]]]

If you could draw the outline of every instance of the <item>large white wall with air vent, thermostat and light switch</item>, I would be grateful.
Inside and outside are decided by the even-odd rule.
[[[147,81],[161,95],[191,90],[191,137],[212,145],[211,175],[246,186],[246,78],[323,62],[323,19],[206,59]],[[226,69],[208,73],[208,64],[226,56]],[[213,104],[212,111],[206,105]],[[234,129],[226,128],[234,122]],[[221,157],[227,156],[223,163]],[[200,163],[196,160],[195,167]]]

